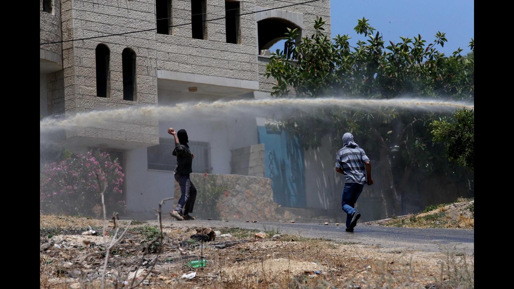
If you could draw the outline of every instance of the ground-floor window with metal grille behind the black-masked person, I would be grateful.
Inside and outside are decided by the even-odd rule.
[[[207,172],[210,174],[209,143],[190,141],[188,145],[191,152],[194,153],[193,172]],[[174,148],[175,141],[169,138],[160,138],[159,145],[148,147],[146,149],[148,169],[175,170],[177,157],[171,154]]]

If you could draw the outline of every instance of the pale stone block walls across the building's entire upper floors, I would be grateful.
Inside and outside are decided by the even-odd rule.
[[[256,7],[276,8],[302,1],[240,1],[240,12],[254,12]],[[42,7],[41,3],[40,0]],[[157,70],[193,73],[203,83],[206,83],[209,76],[236,80],[235,83],[241,82],[241,87],[253,87],[253,82],[259,81],[263,84],[259,86],[260,90],[270,90],[273,80],[265,80],[262,75],[264,64],[258,60],[256,14],[241,16],[240,41],[231,44],[226,43],[225,19],[206,23],[206,40],[192,38],[191,25],[173,27],[171,35],[156,33],[151,30],[156,27],[154,0],[54,0],[53,3],[53,13],[41,11],[42,42],[58,41],[60,37],[67,41],[145,29],[150,31],[41,47],[40,55],[46,55],[46,51],[49,51],[53,53],[53,58],[59,59],[55,55],[62,58],[63,73],[49,77],[54,79],[53,83],[48,84],[49,90],[52,90],[48,92],[48,104],[51,106],[49,113],[74,114],[157,104]],[[310,33],[309,27],[321,15],[328,21],[325,32],[330,33],[328,1],[287,7],[284,10],[303,13],[305,33]],[[207,20],[224,16],[225,0],[207,1]],[[191,0],[172,0],[171,25],[190,22]],[[99,44],[106,45],[110,51],[107,98],[96,97],[95,49]],[[136,54],[135,101],[123,100],[122,51],[125,48],[132,49]],[[67,135],[155,145],[158,144],[157,129],[158,122],[148,119],[113,120],[105,127],[79,129]],[[259,173],[249,172],[250,175],[261,176]]]

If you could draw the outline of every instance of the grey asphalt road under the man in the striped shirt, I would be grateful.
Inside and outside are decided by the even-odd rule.
[[[157,223],[157,221],[150,221]],[[324,238],[342,242],[356,242],[379,245],[386,249],[399,251],[440,252],[442,249],[457,249],[474,253],[474,230],[434,229],[434,228],[393,228],[359,223],[354,233],[344,231],[345,225],[307,224],[307,223],[246,223],[241,221],[175,221],[163,220],[163,225],[172,227],[241,227],[247,229],[267,230],[279,228],[284,234],[300,235],[306,238]],[[220,229],[223,233],[223,230]]]

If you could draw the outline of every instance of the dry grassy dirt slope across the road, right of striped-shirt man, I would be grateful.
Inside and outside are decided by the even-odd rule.
[[[407,228],[474,229],[474,204],[474,199],[457,200],[452,204],[428,207],[424,213],[366,222],[366,224]]]

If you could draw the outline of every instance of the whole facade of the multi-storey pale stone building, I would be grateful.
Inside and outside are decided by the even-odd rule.
[[[67,116],[133,106],[267,98],[273,86],[264,76],[268,49],[287,28],[310,35],[321,16],[330,34],[328,0],[275,9],[302,2],[40,0],[40,43],[63,41],[40,45],[40,112],[44,117]],[[263,11],[267,9],[271,10]],[[249,12],[256,13],[239,16]],[[209,21],[216,18],[220,19]],[[138,30],[148,31],[122,34]],[[121,35],[80,40],[107,34]],[[280,143],[282,137],[264,136],[264,120],[226,115],[205,123],[193,113],[187,121],[173,123],[144,116],[130,121],[111,118],[105,127],[67,129],[60,138],[76,152],[102,148],[118,156],[125,173],[127,215],[150,219],[157,203],[173,196],[170,126],[188,130],[196,156],[193,170],[212,174],[269,177],[271,151],[250,150],[260,143]],[[303,152],[299,156],[293,163],[302,167],[302,180],[291,182],[303,186],[303,196],[283,202],[328,206],[328,197],[305,196],[306,188],[319,187],[311,182],[319,180],[305,178],[313,164]],[[332,153],[326,159],[332,161]],[[172,204],[164,209],[171,210]]]

